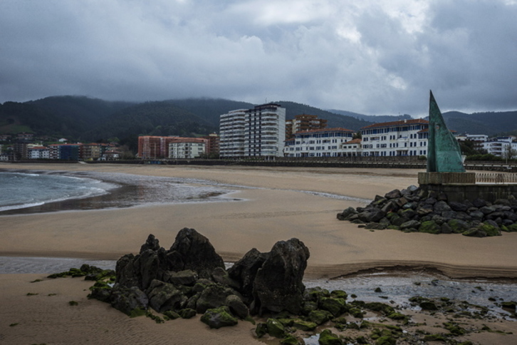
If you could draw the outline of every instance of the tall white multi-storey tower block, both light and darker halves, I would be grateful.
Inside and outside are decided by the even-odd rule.
[[[276,103],[232,110],[220,116],[221,157],[282,157],[286,109]]]

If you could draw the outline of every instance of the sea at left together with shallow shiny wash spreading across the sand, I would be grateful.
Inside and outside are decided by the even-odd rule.
[[[235,186],[117,172],[0,172],[0,215],[233,201]]]

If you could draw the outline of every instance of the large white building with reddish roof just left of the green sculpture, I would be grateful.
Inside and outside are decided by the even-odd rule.
[[[361,128],[362,155],[427,155],[429,121],[418,118]]]

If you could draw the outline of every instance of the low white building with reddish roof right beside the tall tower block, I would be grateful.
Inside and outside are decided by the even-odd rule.
[[[286,157],[338,157],[343,155],[343,144],[352,140],[353,130],[323,128],[295,133],[286,140]]]

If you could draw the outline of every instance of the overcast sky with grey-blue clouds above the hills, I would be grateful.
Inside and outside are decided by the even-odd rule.
[[[517,0],[1,0],[0,103],[517,110]]]

